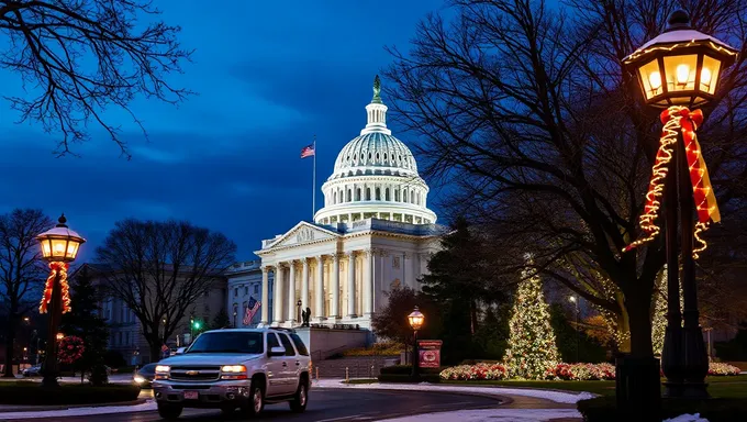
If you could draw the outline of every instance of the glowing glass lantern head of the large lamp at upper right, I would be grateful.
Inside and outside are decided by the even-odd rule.
[[[721,73],[737,51],[690,27],[683,11],[672,13],[669,27],[623,59],[637,75],[646,104],[666,109],[702,107],[715,98]]]

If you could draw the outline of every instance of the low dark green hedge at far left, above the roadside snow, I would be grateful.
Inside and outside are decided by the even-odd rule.
[[[96,404],[133,401],[140,396],[135,385],[62,385],[46,389],[38,382],[0,382],[0,404]]]

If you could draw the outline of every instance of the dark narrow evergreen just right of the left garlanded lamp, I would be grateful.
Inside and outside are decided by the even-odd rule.
[[[66,335],[77,335],[83,340],[86,349],[78,362],[81,382],[86,371],[103,363],[109,340],[105,321],[99,316],[98,289],[92,282],[87,266],[83,266],[70,287],[73,310],[63,314],[60,331]]]

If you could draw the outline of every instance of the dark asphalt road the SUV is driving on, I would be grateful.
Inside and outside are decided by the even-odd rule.
[[[489,397],[464,396],[443,392],[421,391],[365,391],[343,389],[312,389],[309,408],[305,413],[291,413],[287,403],[272,404],[265,408],[261,418],[256,421],[378,421],[382,418],[412,415],[462,409],[494,408],[498,400]],[[221,420],[219,410],[188,409],[182,419],[189,421]],[[60,421],[157,421],[157,412],[136,412],[119,414],[101,414],[60,419]],[[231,420],[244,420],[236,414]],[[36,420],[26,420],[34,421]]]

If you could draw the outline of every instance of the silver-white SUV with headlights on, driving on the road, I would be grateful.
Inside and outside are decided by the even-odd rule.
[[[311,377],[309,351],[292,330],[214,330],[182,354],[158,363],[153,384],[158,414],[178,419],[183,408],[237,408],[256,415],[265,403],[288,401],[303,412]]]

